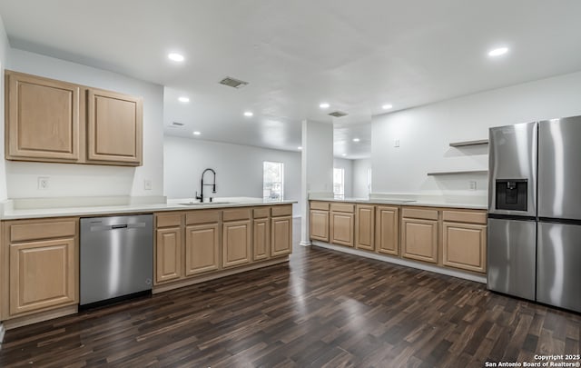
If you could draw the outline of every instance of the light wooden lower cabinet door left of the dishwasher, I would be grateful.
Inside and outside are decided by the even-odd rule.
[[[74,238],[10,245],[10,314],[77,303]]]

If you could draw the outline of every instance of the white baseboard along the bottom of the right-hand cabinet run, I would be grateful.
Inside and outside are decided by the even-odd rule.
[[[448,276],[458,277],[460,279],[474,281],[477,283],[487,283],[487,277],[480,276],[478,274],[463,273],[461,271],[450,270],[450,269],[444,268],[444,267],[433,266],[430,264],[421,264],[419,262],[408,261],[408,260],[405,260],[402,258],[389,257],[388,255],[359,251],[359,249],[349,248],[349,247],[340,246],[340,245],[327,244],[327,243],[319,242],[317,240],[313,240],[312,244],[316,245],[316,246],[320,246],[321,248],[326,248],[326,249],[330,249],[333,251],[359,255],[361,257],[371,258],[371,259],[375,259],[375,260],[383,261],[383,262],[389,262],[390,264],[399,264],[399,265],[404,265],[407,267],[418,268],[419,270],[429,271],[429,272],[432,272],[435,274],[446,274]]]

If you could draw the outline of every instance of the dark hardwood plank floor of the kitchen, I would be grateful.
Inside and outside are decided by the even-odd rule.
[[[8,331],[0,366],[482,367],[580,351],[579,314],[295,244],[289,264]]]

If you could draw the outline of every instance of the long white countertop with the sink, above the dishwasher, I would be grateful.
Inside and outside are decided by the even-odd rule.
[[[167,203],[159,204],[121,204],[121,205],[90,205],[65,206],[53,208],[26,208],[17,209],[5,206],[0,213],[2,220],[16,220],[27,218],[63,217],[63,216],[95,216],[110,214],[151,214],[162,211],[187,211],[207,208],[247,207],[257,205],[296,204],[297,201],[264,201],[261,198],[221,198],[212,203],[184,205],[192,199],[172,199]]]

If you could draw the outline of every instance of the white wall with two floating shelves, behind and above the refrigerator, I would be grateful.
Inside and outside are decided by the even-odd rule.
[[[578,115],[580,101],[578,72],[374,116],[372,192],[486,195],[487,174],[427,173],[487,170],[487,146],[458,149],[448,144],[485,139],[492,126]],[[469,180],[477,181],[476,192],[468,191]]]

